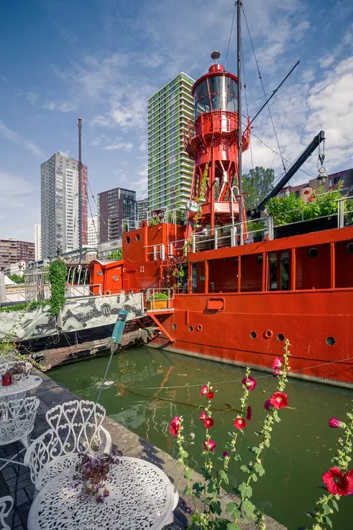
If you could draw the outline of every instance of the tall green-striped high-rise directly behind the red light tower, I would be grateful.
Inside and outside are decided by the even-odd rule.
[[[183,130],[194,119],[194,79],[181,73],[148,100],[148,198],[150,210],[183,208],[190,199],[194,164]]]

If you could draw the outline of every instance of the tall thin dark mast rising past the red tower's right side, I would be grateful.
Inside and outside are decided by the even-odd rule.
[[[243,222],[243,167],[242,167],[242,135],[241,135],[241,6],[242,0],[238,0],[236,8],[236,32],[238,52],[238,189],[239,189],[239,222]],[[240,244],[243,244],[243,224],[240,225]]]

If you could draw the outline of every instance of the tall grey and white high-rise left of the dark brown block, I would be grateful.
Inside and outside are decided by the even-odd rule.
[[[82,244],[87,244],[87,166],[82,164]],[[59,151],[41,164],[41,256],[79,246],[79,162]]]

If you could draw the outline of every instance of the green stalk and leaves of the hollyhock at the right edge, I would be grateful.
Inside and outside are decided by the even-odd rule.
[[[350,464],[352,461],[350,454],[352,453],[353,442],[353,411],[352,413],[347,413],[347,418],[347,423],[340,422],[343,435],[339,436],[337,440],[339,447],[331,460],[332,467],[339,469],[342,475],[346,475],[348,467],[352,468],[352,464]],[[324,475],[326,475],[326,473],[324,473]],[[339,480],[339,477],[336,478],[336,480]],[[336,480],[334,480],[334,482],[336,482]],[[310,530],[325,530],[327,528],[327,524],[330,524],[330,519],[328,516],[331,513],[334,513],[334,509],[339,511],[339,505],[337,504],[337,501],[340,500],[341,496],[342,495],[339,495],[339,493],[334,494],[330,492],[327,492],[325,495],[321,495],[321,497],[315,501],[314,510],[307,513],[307,516],[311,517],[315,521],[312,526],[307,528]]]

